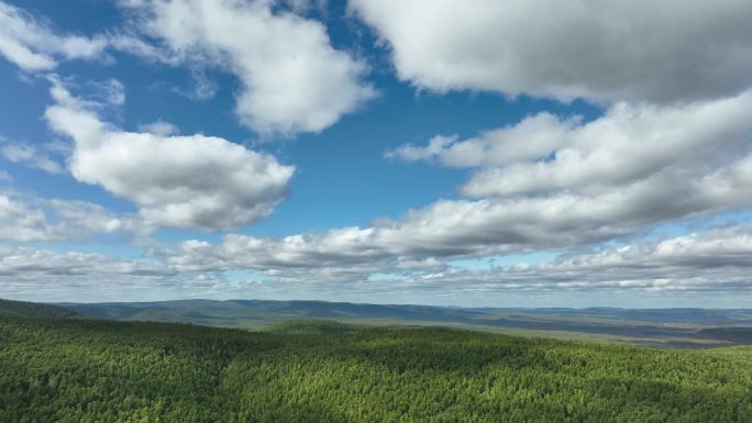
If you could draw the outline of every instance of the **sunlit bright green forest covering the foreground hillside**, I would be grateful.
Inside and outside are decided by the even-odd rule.
[[[0,318],[0,422],[751,422],[752,348]]]

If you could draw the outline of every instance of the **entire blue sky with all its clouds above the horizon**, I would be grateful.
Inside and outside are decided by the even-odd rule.
[[[748,304],[750,7],[543,3],[0,2],[0,297]]]

